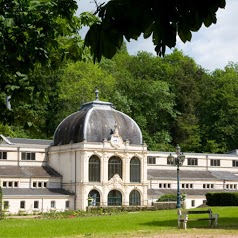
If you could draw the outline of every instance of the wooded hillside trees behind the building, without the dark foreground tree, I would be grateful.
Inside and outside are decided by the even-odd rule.
[[[207,72],[181,51],[164,58],[129,55],[124,46],[100,64],[65,60],[51,73],[37,67],[30,82],[44,83],[44,95],[28,94],[1,117],[6,136],[52,138],[58,123],[95,99],[112,102],[140,126],[150,150],[227,152],[237,146],[238,65]],[[40,87],[41,85],[36,85]],[[34,88],[34,86],[32,86]],[[2,101],[6,94],[1,94]]]

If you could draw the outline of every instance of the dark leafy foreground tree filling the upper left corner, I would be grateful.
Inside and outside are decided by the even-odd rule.
[[[96,17],[89,13],[76,17],[76,10],[75,0],[0,1],[0,110],[4,124],[18,121],[21,125],[22,119],[24,124],[39,124],[45,110],[41,102],[48,98],[52,82],[46,82],[44,75],[52,74],[63,59],[89,58],[78,31]],[[44,71],[43,76],[35,71]],[[11,111],[5,105],[9,95]]]

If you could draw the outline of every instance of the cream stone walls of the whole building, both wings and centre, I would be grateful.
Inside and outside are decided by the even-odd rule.
[[[41,141],[22,143],[19,139],[21,143],[9,143],[4,139],[2,136],[0,143],[0,186],[5,210],[10,214],[86,210],[93,205],[91,191],[99,194],[99,202],[94,204],[97,206],[110,205],[111,191],[121,194],[121,206],[130,205],[133,191],[139,193],[139,206],[149,206],[159,196],[177,191],[176,167],[167,164],[169,152],[147,151],[145,144],[130,145],[120,137],[114,141],[113,136],[101,143],[84,141],[62,146],[50,146],[50,141],[42,145]],[[23,153],[28,153],[28,157]],[[100,160],[100,181],[89,179],[92,156]],[[180,167],[180,192],[186,197],[184,207],[200,206],[207,192],[237,191],[236,153],[185,153],[185,156]],[[121,177],[118,174],[108,176],[112,157],[122,161]],[[132,158],[140,162],[139,182],[132,182],[130,178]],[[155,193],[149,192],[152,190]]]

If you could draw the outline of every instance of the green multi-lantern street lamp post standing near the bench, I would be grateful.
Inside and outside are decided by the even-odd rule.
[[[177,166],[177,205],[176,208],[181,208],[181,196],[180,196],[180,186],[179,186],[179,166],[183,165],[185,160],[185,155],[181,152],[179,145],[176,146],[176,157],[170,154],[167,159],[168,163]]]

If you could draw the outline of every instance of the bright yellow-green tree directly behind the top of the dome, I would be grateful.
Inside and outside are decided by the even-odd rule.
[[[95,100],[96,88],[100,92],[99,100],[108,100],[115,85],[115,79],[93,62],[69,61],[60,74],[57,83],[60,110],[56,114],[58,118],[55,123],[77,111],[83,103]]]

